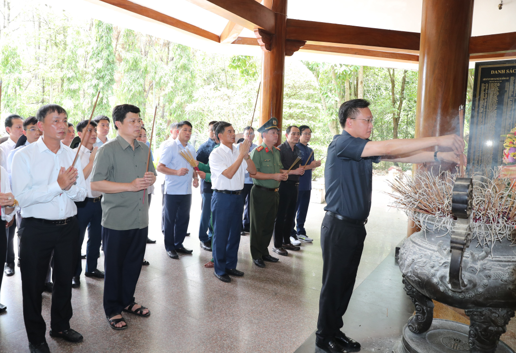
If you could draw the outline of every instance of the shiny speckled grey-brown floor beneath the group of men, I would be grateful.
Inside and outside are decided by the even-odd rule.
[[[366,225],[368,235],[355,285],[360,285],[364,298],[378,293],[377,282],[365,279],[374,275],[407,230],[406,216],[388,208],[389,198],[381,193],[388,190],[384,179],[374,178],[374,206]],[[281,256],[278,263],[266,263],[266,268],[252,264],[249,235],[241,237],[237,268],[245,271],[245,276],[223,283],[215,278],[213,269],[203,267],[212,253],[199,247],[199,190],[193,190],[188,229],[191,236],[184,242],[193,254],[180,255],[180,260],[168,258],[164,249],[160,198],[158,194],[153,196],[150,210],[149,234],[157,243],[147,245],[145,257],[151,264],[142,268],[135,293],[136,301],[148,307],[151,316],[125,315],[127,330],[110,329],[102,308],[103,281],[83,274],[81,286],[73,289],[71,326],[84,335],[84,341],[71,344],[50,338],[47,333],[52,352],[294,352],[311,336],[316,329],[321,287],[319,232],[324,204],[310,204],[305,227],[314,238],[313,244],[302,244],[300,251]],[[103,255],[98,267],[103,268]],[[0,314],[0,352],[28,351],[18,267],[16,271],[14,276],[4,277],[2,284],[0,302],[8,310]],[[385,295],[384,301],[397,302],[394,306],[404,308],[398,311],[407,314],[406,300],[398,300],[404,295],[399,284],[384,285],[396,288]],[[43,293],[47,330],[50,304],[51,295]],[[379,308],[383,305],[377,304]],[[360,303],[355,307],[353,315],[367,316],[360,310]]]

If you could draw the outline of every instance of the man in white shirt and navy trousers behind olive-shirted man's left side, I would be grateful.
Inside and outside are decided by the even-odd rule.
[[[104,278],[104,271],[96,268],[100,254],[100,243],[102,241],[102,192],[92,191],[90,186],[91,169],[98,147],[93,147],[97,139],[97,124],[88,120],[79,122],[76,126],[77,134],[84,140],[80,147],[80,165],[83,166],[84,180],[86,182],[86,199],[82,202],[75,202],[77,206],[77,221],[79,222],[78,251],[83,247],[84,236],[88,229],[88,243],[86,244],[86,277]],[[74,149],[76,151],[77,149]],[[72,279],[72,287],[80,286],[80,274],[83,271],[82,261],[77,261],[75,274]]]

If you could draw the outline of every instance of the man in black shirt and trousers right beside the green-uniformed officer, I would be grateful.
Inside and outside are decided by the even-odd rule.
[[[285,137],[287,138],[280,146],[281,164],[288,169],[301,157],[301,151],[296,143],[299,142],[299,127],[291,125],[287,127]],[[294,218],[296,217],[297,190],[299,185],[299,175],[304,174],[304,168],[299,160],[288,172],[288,179],[280,183],[278,194],[280,203],[276,214],[274,225],[274,247],[272,251],[278,255],[288,255],[288,250],[299,250],[298,246],[291,244],[290,232]]]

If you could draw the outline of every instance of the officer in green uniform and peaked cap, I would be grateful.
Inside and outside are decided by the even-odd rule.
[[[262,145],[251,152],[251,159],[256,166],[252,174],[250,208],[250,242],[251,256],[258,267],[265,267],[264,261],[277,262],[278,258],[269,255],[270,239],[274,231],[274,220],[278,212],[280,196],[278,189],[282,180],[288,179],[280,159],[280,150],[274,145],[278,142],[278,119],[270,118],[260,129]]]

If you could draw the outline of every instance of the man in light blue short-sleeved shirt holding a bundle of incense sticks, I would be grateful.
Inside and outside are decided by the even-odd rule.
[[[157,171],[165,174],[165,203],[163,205],[163,231],[165,250],[171,259],[179,259],[179,253],[191,254],[192,250],[183,246],[192,202],[192,185],[199,186],[197,173],[179,152],[189,150],[195,155],[188,141],[192,134],[192,124],[188,121],[178,123],[178,138],[163,147]],[[193,178],[193,181],[192,181]]]

